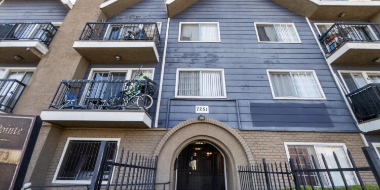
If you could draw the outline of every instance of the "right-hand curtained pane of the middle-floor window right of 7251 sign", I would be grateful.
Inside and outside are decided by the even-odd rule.
[[[299,98],[321,98],[317,81],[312,72],[291,72],[294,88]]]

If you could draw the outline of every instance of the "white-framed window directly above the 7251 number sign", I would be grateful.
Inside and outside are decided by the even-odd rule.
[[[175,97],[225,98],[221,69],[178,69]]]

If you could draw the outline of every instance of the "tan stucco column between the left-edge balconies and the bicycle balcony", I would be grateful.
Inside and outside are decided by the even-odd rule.
[[[40,115],[58,88],[60,80],[82,79],[88,61],[72,48],[86,22],[104,19],[99,9],[104,0],[81,0],[68,12],[63,24],[49,46],[49,52],[41,59],[29,84],[14,108],[14,113]]]

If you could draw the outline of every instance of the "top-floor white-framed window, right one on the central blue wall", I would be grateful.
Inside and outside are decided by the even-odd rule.
[[[293,23],[255,23],[258,42],[301,43]]]

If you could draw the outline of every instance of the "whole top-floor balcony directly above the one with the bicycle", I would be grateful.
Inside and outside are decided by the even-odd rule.
[[[73,48],[90,62],[158,63],[156,23],[87,23]]]

